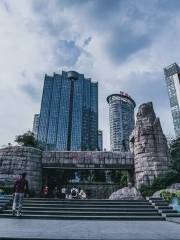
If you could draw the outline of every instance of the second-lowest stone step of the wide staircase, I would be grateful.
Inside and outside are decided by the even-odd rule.
[[[3,214],[11,214],[11,210],[5,210],[3,211]],[[71,216],[106,216],[107,212],[81,212],[81,211],[26,211],[22,210],[22,215],[48,215],[48,216],[61,216],[61,215],[71,215]],[[158,212],[137,212],[137,211],[131,211],[131,212],[108,212],[108,216],[161,216]]]

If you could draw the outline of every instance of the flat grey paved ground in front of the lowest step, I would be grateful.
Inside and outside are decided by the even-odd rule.
[[[0,239],[180,240],[180,225],[165,221],[0,219]]]

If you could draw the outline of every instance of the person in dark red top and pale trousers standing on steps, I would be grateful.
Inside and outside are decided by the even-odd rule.
[[[22,173],[20,178],[18,178],[14,184],[14,199],[13,199],[13,206],[12,206],[12,215],[21,216],[21,209],[24,199],[24,194],[27,192],[29,194],[29,187],[28,181],[26,180],[26,173]]]

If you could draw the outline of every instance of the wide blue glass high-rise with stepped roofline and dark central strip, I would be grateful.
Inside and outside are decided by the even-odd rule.
[[[46,150],[96,150],[98,83],[75,71],[45,75],[38,140]]]

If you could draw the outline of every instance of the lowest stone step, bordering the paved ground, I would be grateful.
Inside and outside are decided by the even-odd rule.
[[[11,214],[1,214],[0,218],[21,218],[21,219],[45,219],[45,220],[112,220],[112,221],[163,221],[165,220],[162,216],[74,216],[74,215],[28,215],[24,214],[21,217],[12,216]]]

